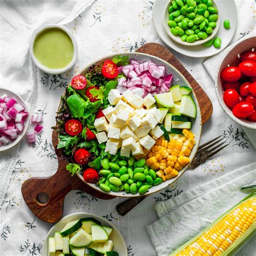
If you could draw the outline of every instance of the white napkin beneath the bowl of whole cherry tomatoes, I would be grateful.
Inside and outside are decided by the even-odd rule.
[[[225,56],[227,55],[227,53],[237,44],[239,44],[240,42],[244,41],[247,38],[250,37],[254,37],[256,36],[256,31],[251,32],[249,35],[242,37],[240,40],[238,40],[237,42],[231,44],[230,46],[228,46],[225,50],[221,51],[218,55],[215,55],[209,59],[207,59],[204,62],[204,66],[207,70],[207,72],[209,73],[209,75],[211,76],[212,80],[215,81],[215,76],[217,73],[217,70],[219,68],[219,65],[221,64],[221,62],[223,61],[223,59],[225,58]],[[242,125],[241,125],[242,126]],[[246,135],[248,137],[248,139],[250,139],[250,142],[252,143],[252,145],[254,146],[254,148],[256,149],[256,130],[253,129],[248,129],[245,126],[242,126],[242,129],[244,129],[244,131],[246,132]]]

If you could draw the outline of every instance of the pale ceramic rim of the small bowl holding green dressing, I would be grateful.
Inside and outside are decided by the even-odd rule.
[[[63,31],[65,31],[69,35],[69,37],[72,41],[72,44],[73,44],[73,58],[72,58],[71,62],[69,63],[69,65],[63,69],[48,69],[48,68],[46,68],[46,66],[44,66],[38,62],[37,58],[35,57],[35,55],[33,53],[33,44],[35,42],[36,36],[39,33],[41,33],[42,31],[47,30],[47,29],[52,29],[52,28],[59,28],[59,29],[62,29]],[[31,40],[30,40],[30,44],[29,44],[29,53],[30,53],[31,58],[33,59],[33,62],[36,64],[36,66],[39,69],[43,70],[46,73],[50,73],[53,75],[62,74],[64,72],[70,70],[77,60],[77,41],[76,41],[75,36],[73,36],[71,31],[69,29],[67,29],[65,26],[58,25],[58,24],[47,24],[47,25],[41,26],[40,28],[38,28],[36,31],[33,32]]]

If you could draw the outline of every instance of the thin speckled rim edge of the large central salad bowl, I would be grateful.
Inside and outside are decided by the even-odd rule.
[[[136,59],[136,56],[140,56],[140,57],[145,56],[145,57],[147,57],[147,58],[151,58],[152,60],[157,60],[158,62],[161,62],[162,64],[164,64],[164,65],[166,65],[166,66],[169,66],[169,68],[171,68],[171,69],[173,69],[173,71],[177,72],[177,74],[178,74],[181,78],[184,79],[184,82],[186,83],[186,85],[189,86],[189,87],[191,87],[191,86],[190,86],[190,83],[188,83],[187,79],[186,79],[176,68],[174,68],[174,66],[172,66],[170,63],[168,63],[168,62],[166,62],[165,60],[160,59],[160,58],[158,58],[158,57],[156,57],[156,56],[148,55],[148,54],[146,54],[146,53],[139,53],[139,52],[132,52],[132,53],[131,53],[131,52],[125,52],[125,53],[123,52],[123,53],[116,53],[115,55],[109,55],[109,56],[107,56],[107,57],[100,58],[100,59],[96,60],[95,62],[93,62],[93,63],[87,65],[87,66],[80,72],[80,74],[83,74],[83,75],[84,75],[84,74],[87,72],[87,70],[88,70],[92,65],[95,65],[95,64],[97,64],[97,63],[102,63],[102,62],[104,62],[104,60],[106,60],[106,59],[112,59],[114,56],[117,56],[117,55],[128,55],[130,59],[131,59],[131,58],[135,58],[135,59]],[[184,83],[183,83],[183,84],[184,84]],[[194,123],[198,123],[197,125],[198,125],[199,131],[193,131],[194,133],[197,133],[198,136],[195,137],[195,139],[196,139],[196,145],[193,147],[193,150],[192,150],[192,152],[191,152],[191,154],[190,154],[190,159],[191,159],[191,161],[193,160],[194,156],[196,155],[196,152],[197,152],[197,149],[198,149],[198,146],[199,146],[200,137],[201,137],[201,125],[202,125],[200,107],[199,107],[199,104],[198,104],[197,97],[196,97],[196,95],[194,94],[194,91],[193,91],[193,99],[195,100],[196,105],[197,105],[197,117],[196,117],[196,119],[194,120]],[[60,104],[60,106],[61,106],[61,104]],[[196,124],[193,124],[192,128],[195,127],[195,126],[196,126]],[[192,129],[192,130],[193,130],[193,129]],[[100,191],[100,192],[105,193],[105,194],[109,194],[110,196],[114,196],[114,197],[126,197],[126,198],[131,198],[131,197],[148,196],[148,195],[153,194],[153,193],[155,193],[155,192],[158,192],[158,191],[162,190],[163,188],[165,188],[165,187],[171,185],[172,183],[174,183],[174,181],[176,181],[176,180],[185,172],[185,170],[188,168],[188,166],[189,166],[189,164],[187,164],[186,166],[184,166],[184,168],[183,168],[181,171],[179,171],[179,174],[178,174],[178,176],[177,176],[176,178],[173,178],[173,179],[170,179],[170,180],[166,180],[166,181],[162,182],[161,184],[159,184],[159,185],[157,185],[157,186],[152,186],[152,187],[149,189],[149,191],[148,191],[147,193],[142,194],[142,195],[140,195],[139,193],[137,193],[137,194],[131,194],[131,193],[127,194],[127,193],[125,193],[124,191],[118,191],[118,192],[113,192],[113,191],[111,191],[111,192],[109,192],[109,193],[106,193],[106,192],[104,192],[103,190],[101,190],[101,189],[99,188],[99,186],[97,186],[97,185],[95,185],[95,184],[90,184],[90,183],[86,183],[86,184],[87,184],[88,186],[94,188],[94,189],[97,190],[97,191]],[[84,181],[84,179],[83,179],[83,176],[82,176],[81,174],[77,174],[77,176],[79,177],[80,180],[82,180],[82,181],[85,183],[85,181]]]

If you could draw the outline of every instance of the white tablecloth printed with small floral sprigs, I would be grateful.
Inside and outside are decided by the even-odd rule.
[[[18,1],[12,2],[18,4]],[[31,4],[35,3],[35,0],[25,2],[29,5],[30,2]],[[65,2],[68,1],[56,1],[59,5],[65,4]],[[65,86],[69,84],[71,76],[93,60],[111,53],[134,51],[148,42],[161,43],[152,23],[153,2],[153,0],[96,1],[73,22],[68,24],[68,28],[75,33],[78,41],[79,53],[75,68],[64,75],[53,76],[37,71],[38,89],[35,111],[44,114],[44,131],[37,137],[35,145],[28,145],[25,141],[21,143],[15,170],[12,173],[8,193],[1,209],[0,255],[39,255],[42,253],[45,235],[52,225],[36,218],[26,207],[21,194],[21,185],[24,180],[30,177],[50,176],[56,171],[57,160],[51,144],[51,126],[55,124],[55,111],[60,95],[64,92]],[[233,41],[247,35],[248,32],[254,29],[254,5],[256,8],[256,4],[252,0],[238,2],[239,23]],[[27,7],[20,10],[28,11]],[[15,5],[10,8],[16,10]],[[31,10],[33,8],[35,6],[31,5]],[[37,2],[36,8],[43,10],[43,6],[39,2]],[[52,17],[54,15],[55,10],[53,9]],[[2,22],[6,23],[3,17],[0,29]],[[23,20],[23,22],[26,21]],[[15,30],[11,28],[11,24],[8,25],[9,30],[1,31],[5,33],[8,31],[14,32]],[[16,45],[18,42],[1,40],[0,48],[7,44]],[[1,56],[6,55],[6,52],[1,51]],[[226,116],[220,107],[215,97],[214,84],[203,67],[204,59],[189,58],[176,52],[173,53],[192,76],[197,79],[213,103],[213,115],[203,126],[201,143],[218,135],[223,135],[230,146],[196,170],[186,171],[173,186],[147,197],[125,217],[120,217],[115,210],[116,205],[123,199],[116,198],[104,201],[80,191],[72,191],[66,196],[64,215],[87,211],[97,213],[113,221],[124,236],[129,256],[156,255],[145,229],[146,225],[157,220],[157,214],[153,209],[154,202],[175,197],[189,188],[204,184],[206,181],[255,161],[255,150],[248,141],[246,134],[239,125]],[[12,58],[17,58],[18,61],[19,56],[12,53]],[[28,65],[28,63],[24,63],[24,65]],[[10,67],[1,62],[1,71],[3,68],[6,71]],[[8,82],[11,82],[15,78],[11,77],[11,70],[9,72],[10,80]],[[26,86],[30,86],[29,80],[24,81],[22,77],[21,82],[23,85],[27,82],[28,85]],[[17,78],[15,83],[11,84],[12,88],[19,89]],[[6,84],[3,77],[1,77],[0,86],[9,87],[10,84]],[[2,162],[0,164],[3,165],[5,159],[0,157],[0,161]]]

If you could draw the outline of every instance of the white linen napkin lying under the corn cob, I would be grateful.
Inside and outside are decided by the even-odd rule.
[[[239,188],[255,181],[256,162],[156,203],[154,208],[160,219],[146,228],[157,254],[169,255],[185,244],[246,197],[247,192]],[[256,244],[249,241],[239,255],[252,255],[252,252],[256,252]]]

